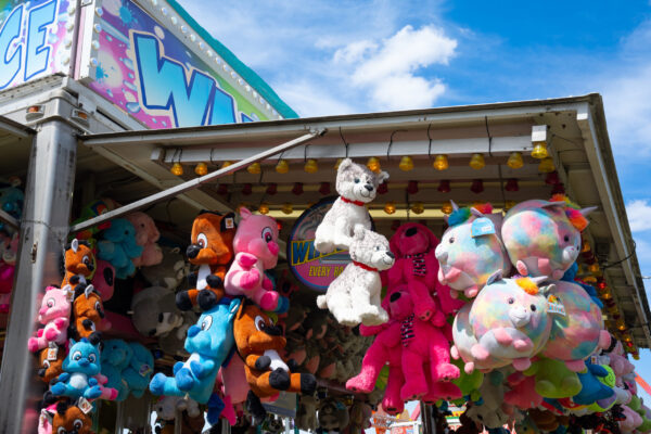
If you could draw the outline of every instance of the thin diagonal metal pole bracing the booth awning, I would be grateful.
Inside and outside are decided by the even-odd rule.
[[[280,154],[281,152],[290,150],[292,148],[296,148],[296,146],[314,139],[315,137],[322,136],[324,133],[326,133],[326,129],[323,129],[323,128],[318,129],[316,131],[311,131],[307,135],[301,136],[301,137],[294,139],[294,140],[291,140],[286,143],[282,143],[282,144],[279,144],[278,146],[271,148],[268,151],[260,152],[259,154],[255,154],[253,156],[250,156],[248,158],[239,161],[238,163],[234,163],[228,167],[225,167],[222,169],[219,169],[219,170],[214,171],[208,175],[204,175],[201,178],[191,179],[190,181],[180,183],[180,184],[175,186],[167,190],[163,190],[158,193],[152,194],[151,196],[148,196],[148,197],[143,197],[140,201],[136,201],[128,205],[120,206],[119,208],[116,208],[108,213],[102,214],[101,216],[91,218],[90,220],[82,221],[78,225],[73,226],[71,228],[71,232],[78,232],[80,230],[92,228],[93,226],[97,226],[97,225],[101,224],[102,221],[107,221],[113,218],[127,215],[127,214],[138,210],[140,208],[143,208],[148,205],[154,204],[156,202],[165,201],[166,199],[174,197],[176,195],[184,193],[188,190],[196,189],[197,187],[200,187],[204,183],[207,183],[207,182],[214,181],[215,179],[233,174],[233,173],[240,170],[241,168],[248,166],[250,164],[266,159],[276,154]]]

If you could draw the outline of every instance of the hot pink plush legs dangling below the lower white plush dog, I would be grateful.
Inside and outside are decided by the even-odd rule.
[[[388,382],[384,390],[382,408],[390,414],[399,414],[405,410],[405,403],[400,397],[400,388],[405,384],[400,326],[396,320],[390,320],[382,326],[359,326],[361,335],[375,335],[375,340],[363,356],[359,374],[346,382],[348,391],[370,393],[375,387],[380,371],[388,363]]]

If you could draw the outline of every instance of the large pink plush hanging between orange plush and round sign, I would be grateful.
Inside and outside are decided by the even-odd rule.
[[[268,216],[254,216],[240,208],[242,221],[233,238],[235,258],[226,273],[224,289],[229,295],[245,295],[264,310],[283,310],[286,298],[273,291],[265,270],[278,264],[278,224]]]

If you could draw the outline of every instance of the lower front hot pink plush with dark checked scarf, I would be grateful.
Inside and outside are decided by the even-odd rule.
[[[418,282],[410,285],[414,284]],[[400,397],[404,400],[421,397],[427,397],[427,400],[435,400],[431,397],[460,398],[461,391],[450,383],[450,380],[459,378],[460,372],[450,363],[449,343],[433,320],[424,321],[414,316],[417,302],[412,299],[408,285],[390,288],[385,301],[391,318],[400,321],[405,375]]]

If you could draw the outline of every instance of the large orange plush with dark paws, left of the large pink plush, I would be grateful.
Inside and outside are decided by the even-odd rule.
[[[197,265],[196,273],[189,276],[191,290],[177,293],[179,309],[190,310],[199,304],[208,310],[224,296],[224,278],[233,259],[235,216],[202,212],[192,224],[192,244],[186,254],[190,264]]]

